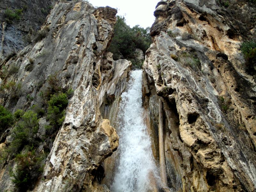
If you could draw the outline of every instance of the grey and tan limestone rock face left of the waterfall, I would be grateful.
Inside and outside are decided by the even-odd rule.
[[[110,7],[96,9],[86,1],[60,1],[42,26],[47,29],[46,37],[1,62],[7,69],[18,68],[3,79],[19,84],[18,97],[1,92],[1,103],[12,111],[43,102],[39,93],[48,86],[50,75],[62,89],[74,90],[43,176],[33,191],[109,191],[96,175],[99,165],[116,150],[118,136],[109,120],[102,119],[100,106],[108,94],[119,96],[119,84],[126,81],[131,68],[131,62],[114,62],[106,52],[116,13]],[[29,101],[28,95],[34,100]],[[40,119],[38,134],[44,134],[45,124]],[[14,190],[8,174],[13,164],[10,161],[1,172],[0,179],[5,180],[1,190]]]

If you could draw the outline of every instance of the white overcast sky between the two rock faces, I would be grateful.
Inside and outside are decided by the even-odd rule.
[[[89,0],[93,6],[117,8],[117,15],[125,17],[127,25],[151,27],[155,21],[154,11],[160,0]]]

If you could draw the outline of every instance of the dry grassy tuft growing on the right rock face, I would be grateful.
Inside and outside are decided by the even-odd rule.
[[[182,52],[179,55],[178,61],[194,71],[196,71],[201,65],[200,60],[196,57],[196,55],[188,52]]]

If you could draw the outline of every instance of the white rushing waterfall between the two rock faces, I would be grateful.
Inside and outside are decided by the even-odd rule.
[[[131,71],[128,88],[121,95],[117,117],[119,146],[114,180],[110,187],[113,192],[146,192],[153,191],[156,186],[154,180],[158,174],[143,120],[141,89],[142,71]]]

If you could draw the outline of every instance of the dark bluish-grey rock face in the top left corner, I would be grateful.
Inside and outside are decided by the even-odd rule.
[[[28,43],[26,37],[29,30],[38,30],[57,0],[2,0],[0,4],[0,60],[19,52]],[[5,11],[22,9],[20,19],[7,21]],[[31,32],[31,31],[30,31]]]

